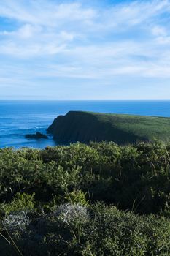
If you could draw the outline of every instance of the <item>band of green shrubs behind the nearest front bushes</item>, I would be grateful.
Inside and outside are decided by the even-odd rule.
[[[170,148],[158,141],[117,146],[81,143],[45,150],[0,151],[0,203],[16,193],[35,193],[36,205],[65,201],[82,191],[91,203],[104,201],[140,214],[159,213],[170,193]]]

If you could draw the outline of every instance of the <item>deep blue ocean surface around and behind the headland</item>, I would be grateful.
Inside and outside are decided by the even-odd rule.
[[[55,146],[53,138],[28,140],[25,135],[45,132],[69,110],[170,117],[170,101],[0,101],[0,148]]]

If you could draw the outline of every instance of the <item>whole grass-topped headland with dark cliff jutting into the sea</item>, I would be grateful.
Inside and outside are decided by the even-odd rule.
[[[62,143],[169,141],[170,118],[70,111],[58,116],[47,131]]]

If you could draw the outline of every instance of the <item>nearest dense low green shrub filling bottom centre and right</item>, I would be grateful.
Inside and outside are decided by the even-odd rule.
[[[51,214],[27,222],[20,236],[16,237],[14,230],[11,235],[26,256],[170,254],[169,219],[139,217],[101,203],[90,208],[64,204]],[[2,238],[1,255],[17,255],[1,243]]]

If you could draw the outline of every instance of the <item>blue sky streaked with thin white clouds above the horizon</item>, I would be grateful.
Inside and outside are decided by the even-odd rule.
[[[170,0],[0,0],[0,99],[170,99]]]

